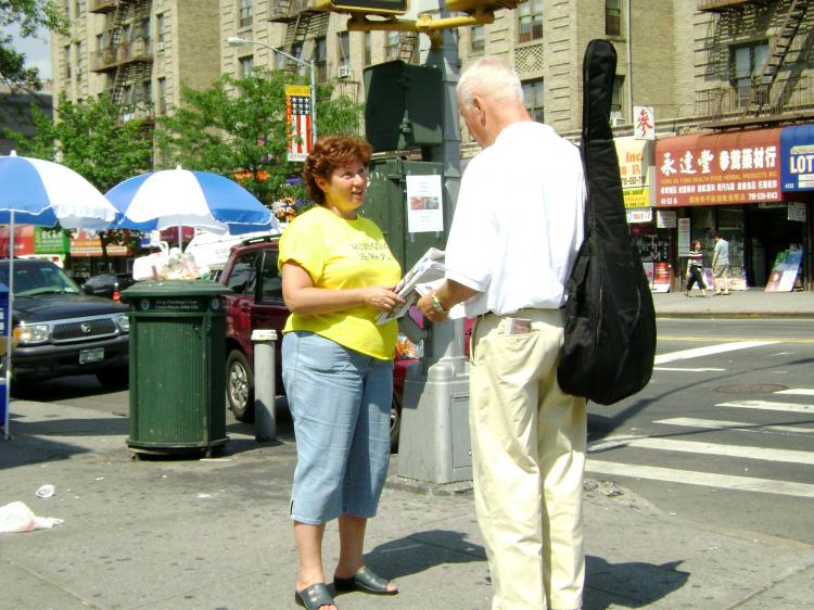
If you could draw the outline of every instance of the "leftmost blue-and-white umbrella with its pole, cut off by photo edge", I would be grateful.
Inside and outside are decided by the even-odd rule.
[[[116,218],[116,208],[73,169],[43,161],[0,156],[0,225],[9,225],[9,319],[5,336],[5,418],[9,437],[11,396],[12,312],[14,307],[14,224],[65,228],[105,229]]]

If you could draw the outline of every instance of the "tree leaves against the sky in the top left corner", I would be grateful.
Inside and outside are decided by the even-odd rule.
[[[55,0],[0,1],[0,26],[12,24],[18,25],[23,38],[36,36],[39,28],[66,34],[68,27],[67,17]],[[0,82],[29,92],[41,88],[39,71],[26,67],[25,54],[14,50],[9,35],[0,35]]]

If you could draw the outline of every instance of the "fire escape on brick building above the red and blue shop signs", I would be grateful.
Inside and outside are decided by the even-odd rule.
[[[707,112],[701,113],[711,119],[710,127],[771,123],[814,113],[814,82],[803,76],[803,68],[798,65],[800,52],[792,50],[796,38],[804,38],[799,40],[798,49],[805,50],[814,36],[812,28],[801,29],[809,3],[809,0],[699,0],[699,11],[717,13],[707,51],[708,64],[712,69],[717,66],[722,79],[733,80],[728,45],[734,37],[774,29],[766,61],[755,66],[747,87],[736,86],[734,92],[729,87],[701,92],[707,96],[703,100]]]

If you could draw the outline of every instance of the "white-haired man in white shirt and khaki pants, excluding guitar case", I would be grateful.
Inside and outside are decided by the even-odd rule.
[[[517,73],[471,64],[458,106],[483,151],[466,169],[432,322],[474,317],[470,429],[494,610],[582,606],[585,399],[557,384],[565,284],[583,240],[577,149],[532,122]],[[499,206],[495,202],[500,202]]]

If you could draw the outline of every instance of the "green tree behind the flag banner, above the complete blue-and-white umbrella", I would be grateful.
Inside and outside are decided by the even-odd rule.
[[[258,68],[245,78],[221,76],[205,90],[185,88],[181,107],[158,123],[158,163],[240,176],[267,205],[298,199],[302,189],[287,182],[302,170],[287,161],[284,88],[294,82],[295,75]],[[363,106],[332,92],[332,84],[317,87],[317,132],[358,134]]]

